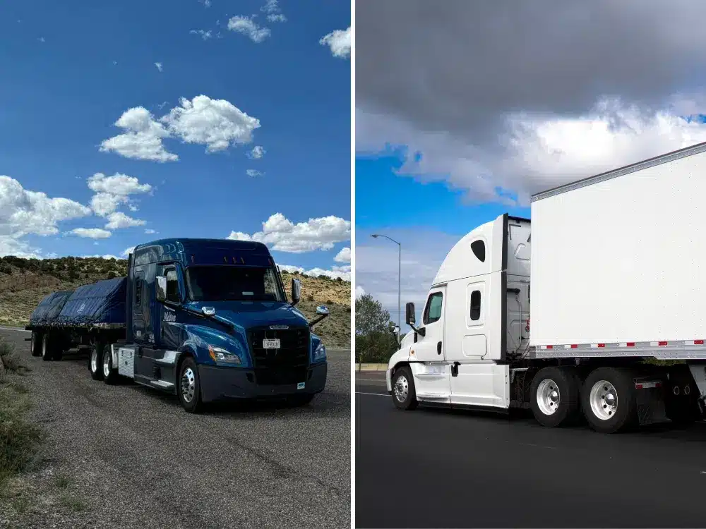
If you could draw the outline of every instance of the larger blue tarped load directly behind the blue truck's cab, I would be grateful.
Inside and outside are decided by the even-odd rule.
[[[76,288],[56,322],[75,324],[125,324],[126,277],[116,277]]]

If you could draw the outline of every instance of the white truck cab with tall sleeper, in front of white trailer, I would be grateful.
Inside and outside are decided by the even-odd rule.
[[[521,355],[529,339],[530,244],[530,221],[505,214],[450,250],[419,324],[414,303],[407,303],[412,332],[386,375],[396,404],[508,408],[507,360]]]

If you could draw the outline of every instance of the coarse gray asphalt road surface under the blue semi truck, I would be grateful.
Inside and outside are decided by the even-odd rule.
[[[85,526],[349,527],[349,351],[329,352],[326,389],[309,406],[190,415],[177,397],[93,381],[85,356],[42,362],[28,333],[0,336],[32,369],[26,384],[49,431],[47,458],[88,503]],[[47,513],[41,526],[51,523]]]

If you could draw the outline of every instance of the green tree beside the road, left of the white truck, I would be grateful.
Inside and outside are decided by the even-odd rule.
[[[383,305],[364,294],[355,300],[355,352],[361,362],[386,363],[397,351],[395,324]]]

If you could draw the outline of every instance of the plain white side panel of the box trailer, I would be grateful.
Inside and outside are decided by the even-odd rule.
[[[705,151],[532,197],[532,346],[706,338]]]

